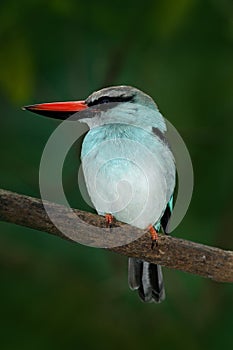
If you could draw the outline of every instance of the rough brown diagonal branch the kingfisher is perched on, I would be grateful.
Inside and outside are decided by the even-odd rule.
[[[105,227],[103,217],[74,209],[80,220],[79,225],[77,220],[72,221],[67,208],[49,202],[47,205],[53,210],[56,220],[63,227],[69,226],[71,232],[69,237],[61,233],[49,220],[40,199],[0,190],[0,220],[48,232],[74,242],[79,242],[80,235],[85,234],[82,232],[82,223],[85,221],[93,225],[89,226],[92,237],[91,245],[98,245],[99,238],[94,233],[96,227]],[[151,240],[148,233],[120,222],[116,222],[115,225],[121,232],[119,239],[125,235],[135,235],[135,233],[137,235],[140,233],[142,236],[130,244],[110,248],[111,251],[208,277],[218,282],[233,282],[232,251],[165,235],[159,235],[158,247],[151,250]]]

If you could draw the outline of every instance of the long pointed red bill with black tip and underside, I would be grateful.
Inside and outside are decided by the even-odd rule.
[[[24,106],[23,110],[41,114],[55,119],[66,119],[70,115],[87,109],[85,101],[52,102]]]

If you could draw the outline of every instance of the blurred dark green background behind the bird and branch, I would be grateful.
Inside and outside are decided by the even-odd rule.
[[[233,4],[230,0],[8,0],[0,4],[1,188],[39,197],[58,121],[36,102],[108,85],[151,95],[182,135],[195,174],[174,235],[233,249]],[[72,152],[64,184],[79,198]],[[143,304],[127,259],[0,223],[0,348],[231,349],[233,288],[164,268],[167,299]]]

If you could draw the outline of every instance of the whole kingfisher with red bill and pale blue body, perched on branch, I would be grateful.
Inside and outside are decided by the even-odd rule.
[[[147,229],[153,248],[157,232],[167,233],[176,185],[166,122],[154,100],[135,87],[119,85],[97,90],[85,100],[23,109],[60,120],[76,114],[88,125],[81,162],[97,213],[105,215],[110,226],[115,218]],[[160,265],[128,258],[128,284],[143,302],[165,299]]]

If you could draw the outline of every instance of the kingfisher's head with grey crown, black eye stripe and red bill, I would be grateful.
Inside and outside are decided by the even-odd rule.
[[[153,99],[139,89],[125,85],[95,91],[84,101],[41,103],[23,109],[61,120],[74,116],[75,120],[86,123],[90,128],[125,123],[166,130]]]

